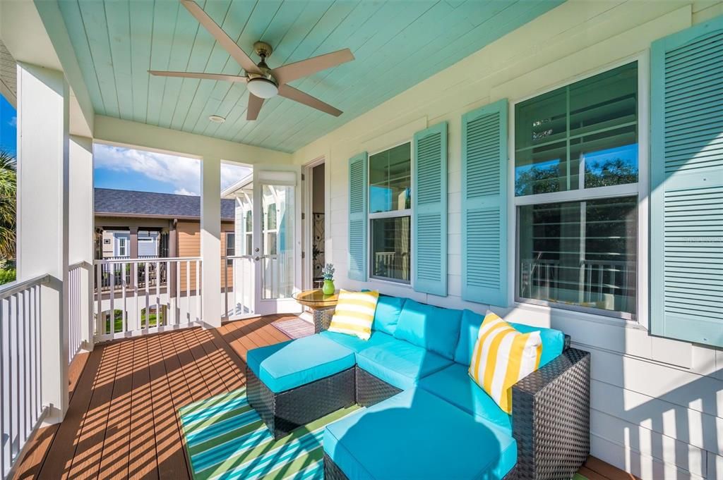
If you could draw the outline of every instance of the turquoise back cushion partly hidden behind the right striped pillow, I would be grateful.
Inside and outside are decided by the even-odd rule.
[[[455,362],[461,363],[469,367],[472,359],[472,351],[477,341],[477,333],[479,326],[482,325],[484,315],[474,313],[471,310],[464,310],[462,313],[462,326],[459,332],[459,343],[454,354]],[[562,353],[565,346],[565,334],[555,328],[544,328],[524,325],[523,323],[510,323],[522,333],[531,331],[539,331],[542,339],[542,357],[540,358],[540,367],[549,363],[552,359]]]

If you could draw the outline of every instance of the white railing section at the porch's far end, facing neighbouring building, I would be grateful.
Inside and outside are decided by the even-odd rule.
[[[95,261],[95,341],[198,325],[201,305],[200,257]]]

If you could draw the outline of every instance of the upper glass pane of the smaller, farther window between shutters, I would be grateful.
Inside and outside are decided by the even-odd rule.
[[[369,156],[369,212],[411,208],[411,144]]]

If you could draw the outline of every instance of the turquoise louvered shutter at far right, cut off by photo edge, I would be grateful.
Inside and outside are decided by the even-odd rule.
[[[651,47],[651,332],[723,346],[723,17]]]

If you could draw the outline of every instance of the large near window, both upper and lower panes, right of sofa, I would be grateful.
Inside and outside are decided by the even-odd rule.
[[[517,299],[634,318],[638,65],[515,105]]]

